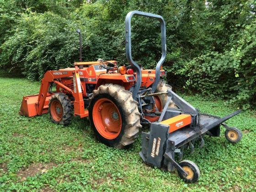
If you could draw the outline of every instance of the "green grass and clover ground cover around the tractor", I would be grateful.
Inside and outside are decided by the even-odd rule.
[[[238,144],[230,144],[224,128],[218,138],[205,138],[202,149],[184,159],[194,161],[201,178],[186,184],[176,172],[145,165],[139,157],[141,138],[128,150],[99,143],[85,119],[69,126],[53,124],[48,114],[18,114],[23,95],[37,94],[39,82],[0,78],[0,191],[107,190],[107,191],[255,191],[256,117],[245,111],[227,123],[243,131]],[[202,112],[225,116],[235,107],[224,101],[184,96]],[[21,175],[22,174],[22,175]]]

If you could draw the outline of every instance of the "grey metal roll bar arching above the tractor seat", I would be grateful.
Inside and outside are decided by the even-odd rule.
[[[126,33],[126,35],[125,35],[125,50],[126,50],[126,56],[127,56],[129,64],[131,64],[133,66],[133,68],[135,68],[135,71],[136,71],[137,82],[136,82],[136,85],[135,85],[134,90],[133,90],[133,99],[136,99],[136,96],[137,96],[138,91],[139,91],[140,86],[141,86],[141,70],[140,70],[139,65],[135,61],[133,61],[133,57],[132,57],[131,19],[132,19],[133,15],[155,18],[155,19],[160,21],[160,25],[161,25],[162,56],[161,56],[161,59],[156,64],[155,82],[152,85],[152,90],[151,90],[152,93],[155,92],[156,87],[159,83],[160,68],[161,68],[162,64],[164,63],[164,61],[165,61],[165,56],[166,56],[166,37],[165,36],[166,35],[165,35],[165,20],[162,16],[155,15],[155,14],[152,14],[152,13],[146,13],[146,12],[143,12],[143,11],[130,11],[126,15],[126,18],[125,18],[125,33]]]

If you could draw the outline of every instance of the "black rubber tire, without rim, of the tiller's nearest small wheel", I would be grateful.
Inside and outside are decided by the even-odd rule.
[[[182,160],[179,165],[183,168],[185,166],[189,167],[193,171],[193,176],[190,179],[187,179],[185,176],[182,175],[180,171],[178,171],[179,176],[181,179],[187,183],[195,183],[198,181],[200,177],[200,170],[197,165],[192,162],[191,160]]]

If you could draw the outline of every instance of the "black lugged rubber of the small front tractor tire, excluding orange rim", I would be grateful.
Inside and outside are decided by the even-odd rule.
[[[52,117],[51,104],[53,103],[53,101],[58,101],[63,109],[63,115],[59,121],[54,120],[54,118]],[[73,106],[71,104],[71,101],[69,100],[69,97],[64,93],[55,93],[54,95],[52,95],[52,98],[49,102],[48,112],[53,123],[68,125],[73,117]]]

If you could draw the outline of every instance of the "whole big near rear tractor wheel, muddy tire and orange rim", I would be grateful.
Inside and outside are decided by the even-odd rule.
[[[132,93],[114,84],[93,91],[89,119],[97,139],[118,149],[133,144],[141,127],[138,103]]]

